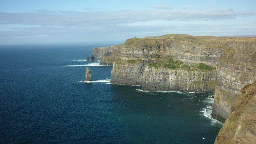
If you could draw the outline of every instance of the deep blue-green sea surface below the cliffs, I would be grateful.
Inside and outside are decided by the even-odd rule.
[[[213,93],[112,85],[112,65],[85,60],[102,46],[0,46],[0,143],[214,142]]]

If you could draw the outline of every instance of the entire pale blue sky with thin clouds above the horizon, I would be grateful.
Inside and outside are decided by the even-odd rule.
[[[256,0],[0,0],[0,44],[256,35]]]

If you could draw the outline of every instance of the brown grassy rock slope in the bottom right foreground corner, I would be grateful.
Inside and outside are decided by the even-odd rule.
[[[215,144],[256,142],[256,81],[241,90],[242,95],[220,129]]]

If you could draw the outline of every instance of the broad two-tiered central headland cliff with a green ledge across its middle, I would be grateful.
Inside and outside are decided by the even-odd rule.
[[[183,34],[127,39],[121,62],[113,65],[111,83],[142,85],[143,90],[214,91],[216,70],[190,67],[199,63],[215,67],[219,42],[216,37]],[[141,61],[131,64],[130,60]]]

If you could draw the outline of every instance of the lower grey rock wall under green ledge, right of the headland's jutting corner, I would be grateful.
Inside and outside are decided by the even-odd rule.
[[[215,70],[184,70],[146,66],[142,90],[205,92],[214,91]]]

